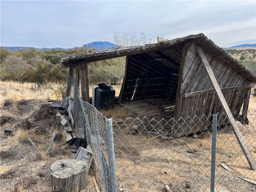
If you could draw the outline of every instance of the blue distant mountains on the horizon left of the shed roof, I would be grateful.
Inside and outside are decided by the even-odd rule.
[[[103,51],[103,50],[107,50],[107,49],[113,49],[115,47],[117,47],[117,45],[115,45],[114,43],[109,43],[109,42],[92,42],[92,43],[87,43],[86,44],[87,48],[95,48],[97,51]],[[5,49],[7,49],[8,51],[19,51],[19,50],[29,50],[32,47],[23,47],[23,46],[3,46]],[[55,50],[72,50],[75,49],[74,48],[61,48],[61,47],[54,47],[54,48],[36,48],[34,47],[36,50],[38,51],[50,51],[52,49]],[[81,47],[78,47],[81,48]]]

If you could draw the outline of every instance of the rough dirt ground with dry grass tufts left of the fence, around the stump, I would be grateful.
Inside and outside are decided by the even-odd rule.
[[[51,164],[75,155],[66,146],[64,129],[56,111],[50,110],[45,100],[5,103],[7,106],[0,108],[0,191],[51,191]],[[57,137],[46,155],[54,133]],[[36,155],[28,138],[34,141],[42,157]],[[84,191],[95,191],[91,177]]]

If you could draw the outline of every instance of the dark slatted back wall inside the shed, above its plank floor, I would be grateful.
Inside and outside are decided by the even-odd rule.
[[[175,102],[180,58],[175,47],[127,56],[121,103],[151,98]]]

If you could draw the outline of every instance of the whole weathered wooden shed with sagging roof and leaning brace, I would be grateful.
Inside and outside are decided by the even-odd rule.
[[[180,117],[201,117],[205,124],[195,121],[190,127],[164,127],[173,137],[205,130],[211,120],[209,114],[225,112],[233,126],[236,138],[251,168],[256,164],[245,145],[243,134],[233,116],[241,111],[246,119],[251,83],[256,77],[239,65],[225,51],[204,34],[143,46],[121,47],[113,50],[62,58],[63,67],[69,67],[79,84],[82,99],[89,102],[87,65],[90,62],[126,56],[126,69],[119,103],[140,115],[173,122]],[[201,118],[202,120],[202,118]],[[245,123],[245,122],[244,122]],[[168,124],[170,125],[170,124]],[[195,126],[196,125],[196,126]]]

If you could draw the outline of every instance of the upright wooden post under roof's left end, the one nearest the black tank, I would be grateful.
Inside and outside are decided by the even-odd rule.
[[[89,97],[89,78],[88,78],[88,66],[87,63],[81,63],[81,92],[83,101],[90,102]]]

